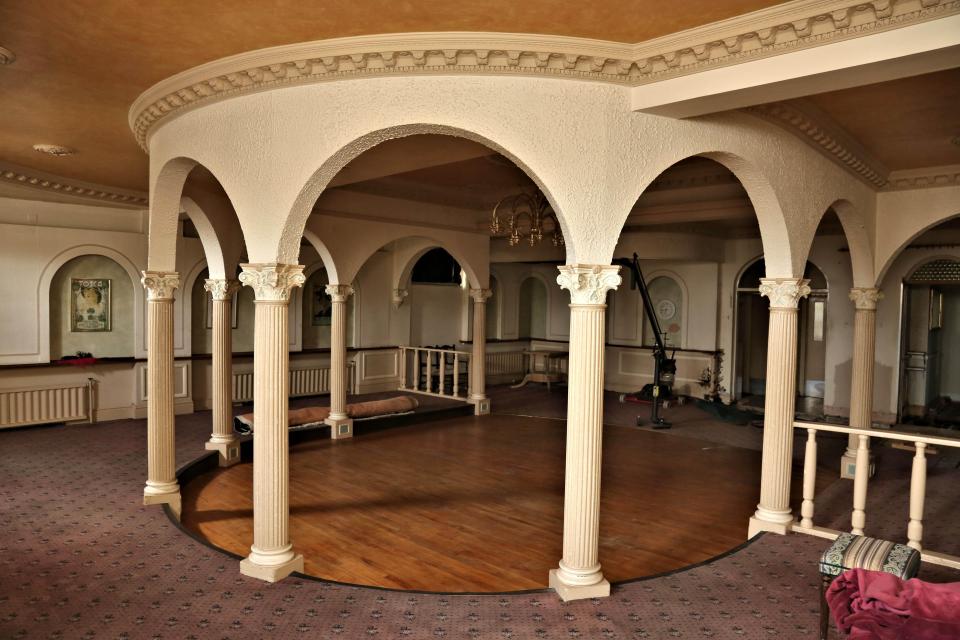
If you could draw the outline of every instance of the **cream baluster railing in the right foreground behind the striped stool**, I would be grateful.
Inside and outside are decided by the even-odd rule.
[[[960,557],[923,549],[923,503],[927,492],[927,447],[960,448],[960,440],[923,436],[903,431],[855,429],[842,425],[813,422],[794,422],[793,426],[795,429],[806,429],[807,431],[807,444],[803,460],[803,503],[800,506],[800,521],[793,525],[793,531],[831,539],[836,538],[841,533],[836,529],[818,527],[813,523],[817,477],[817,432],[825,431],[858,437],[857,468],[853,480],[853,505],[850,515],[850,532],[856,535],[863,535],[867,522],[870,439],[906,442],[912,444],[916,450],[910,479],[910,515],[906,526],[907,545],[920,551],[921,558],[925,562],[960,569]]]

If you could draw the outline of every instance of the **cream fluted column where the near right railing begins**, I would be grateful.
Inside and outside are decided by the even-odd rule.
[[[797,304],[810,294],[808,285],[809,280],[794,278],[760,280],[760,295],[770,298],[770,329],[767,337],[760,504],[750,518],[750,537],[760,531],[787,533],[793,522],[790,472],[797,399]]]

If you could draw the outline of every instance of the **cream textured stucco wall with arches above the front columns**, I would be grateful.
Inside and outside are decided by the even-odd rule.
[[[642,190],[690,156],[721,160],[744,182],[763,221],[773,277],[797,277],[801,248],[837,194],[866,215],[876,197],[757,116],[651,116],[630,110],[628,88],[549,77],[451,73],[278,86],[164,120],[150,149],[161,166],[215,158],[207,166],[223,178],[250,261],[292,262],[330,178],[378,142],[418,133],[468,137],[516,162],[557,211],[568,263],[609,263]]]

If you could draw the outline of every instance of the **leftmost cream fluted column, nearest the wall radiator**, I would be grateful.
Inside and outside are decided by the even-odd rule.
[[[147,485],[143,504],[169,504],[180,517],[173,420],[173,292],[180,275],[144,271],[147,292]]]

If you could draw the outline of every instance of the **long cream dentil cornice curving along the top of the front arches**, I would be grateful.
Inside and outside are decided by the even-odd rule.
[[[291,84],[391,74],[542,75],[636,86],[960,13],[960,0],[794,0],[640,44],[511,33],[409,33],[261,49],[184,71],[133,103],[150,130],[189,107]]]

